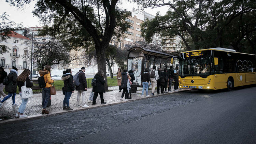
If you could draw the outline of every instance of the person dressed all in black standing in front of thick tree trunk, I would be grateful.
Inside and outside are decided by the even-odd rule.
[[[96,99],[98,97],[98,94],[100,94],[101,104],[106,104],[103,98],[103,92],[105,93],[105,88],[104,88],[105,79],[103,77],[102,70],[99,70],[98,73],[95,74],[94,78],[96,79],[96,86],[93,87],[93,92],[94,92],[93,105],[97,104]]]

